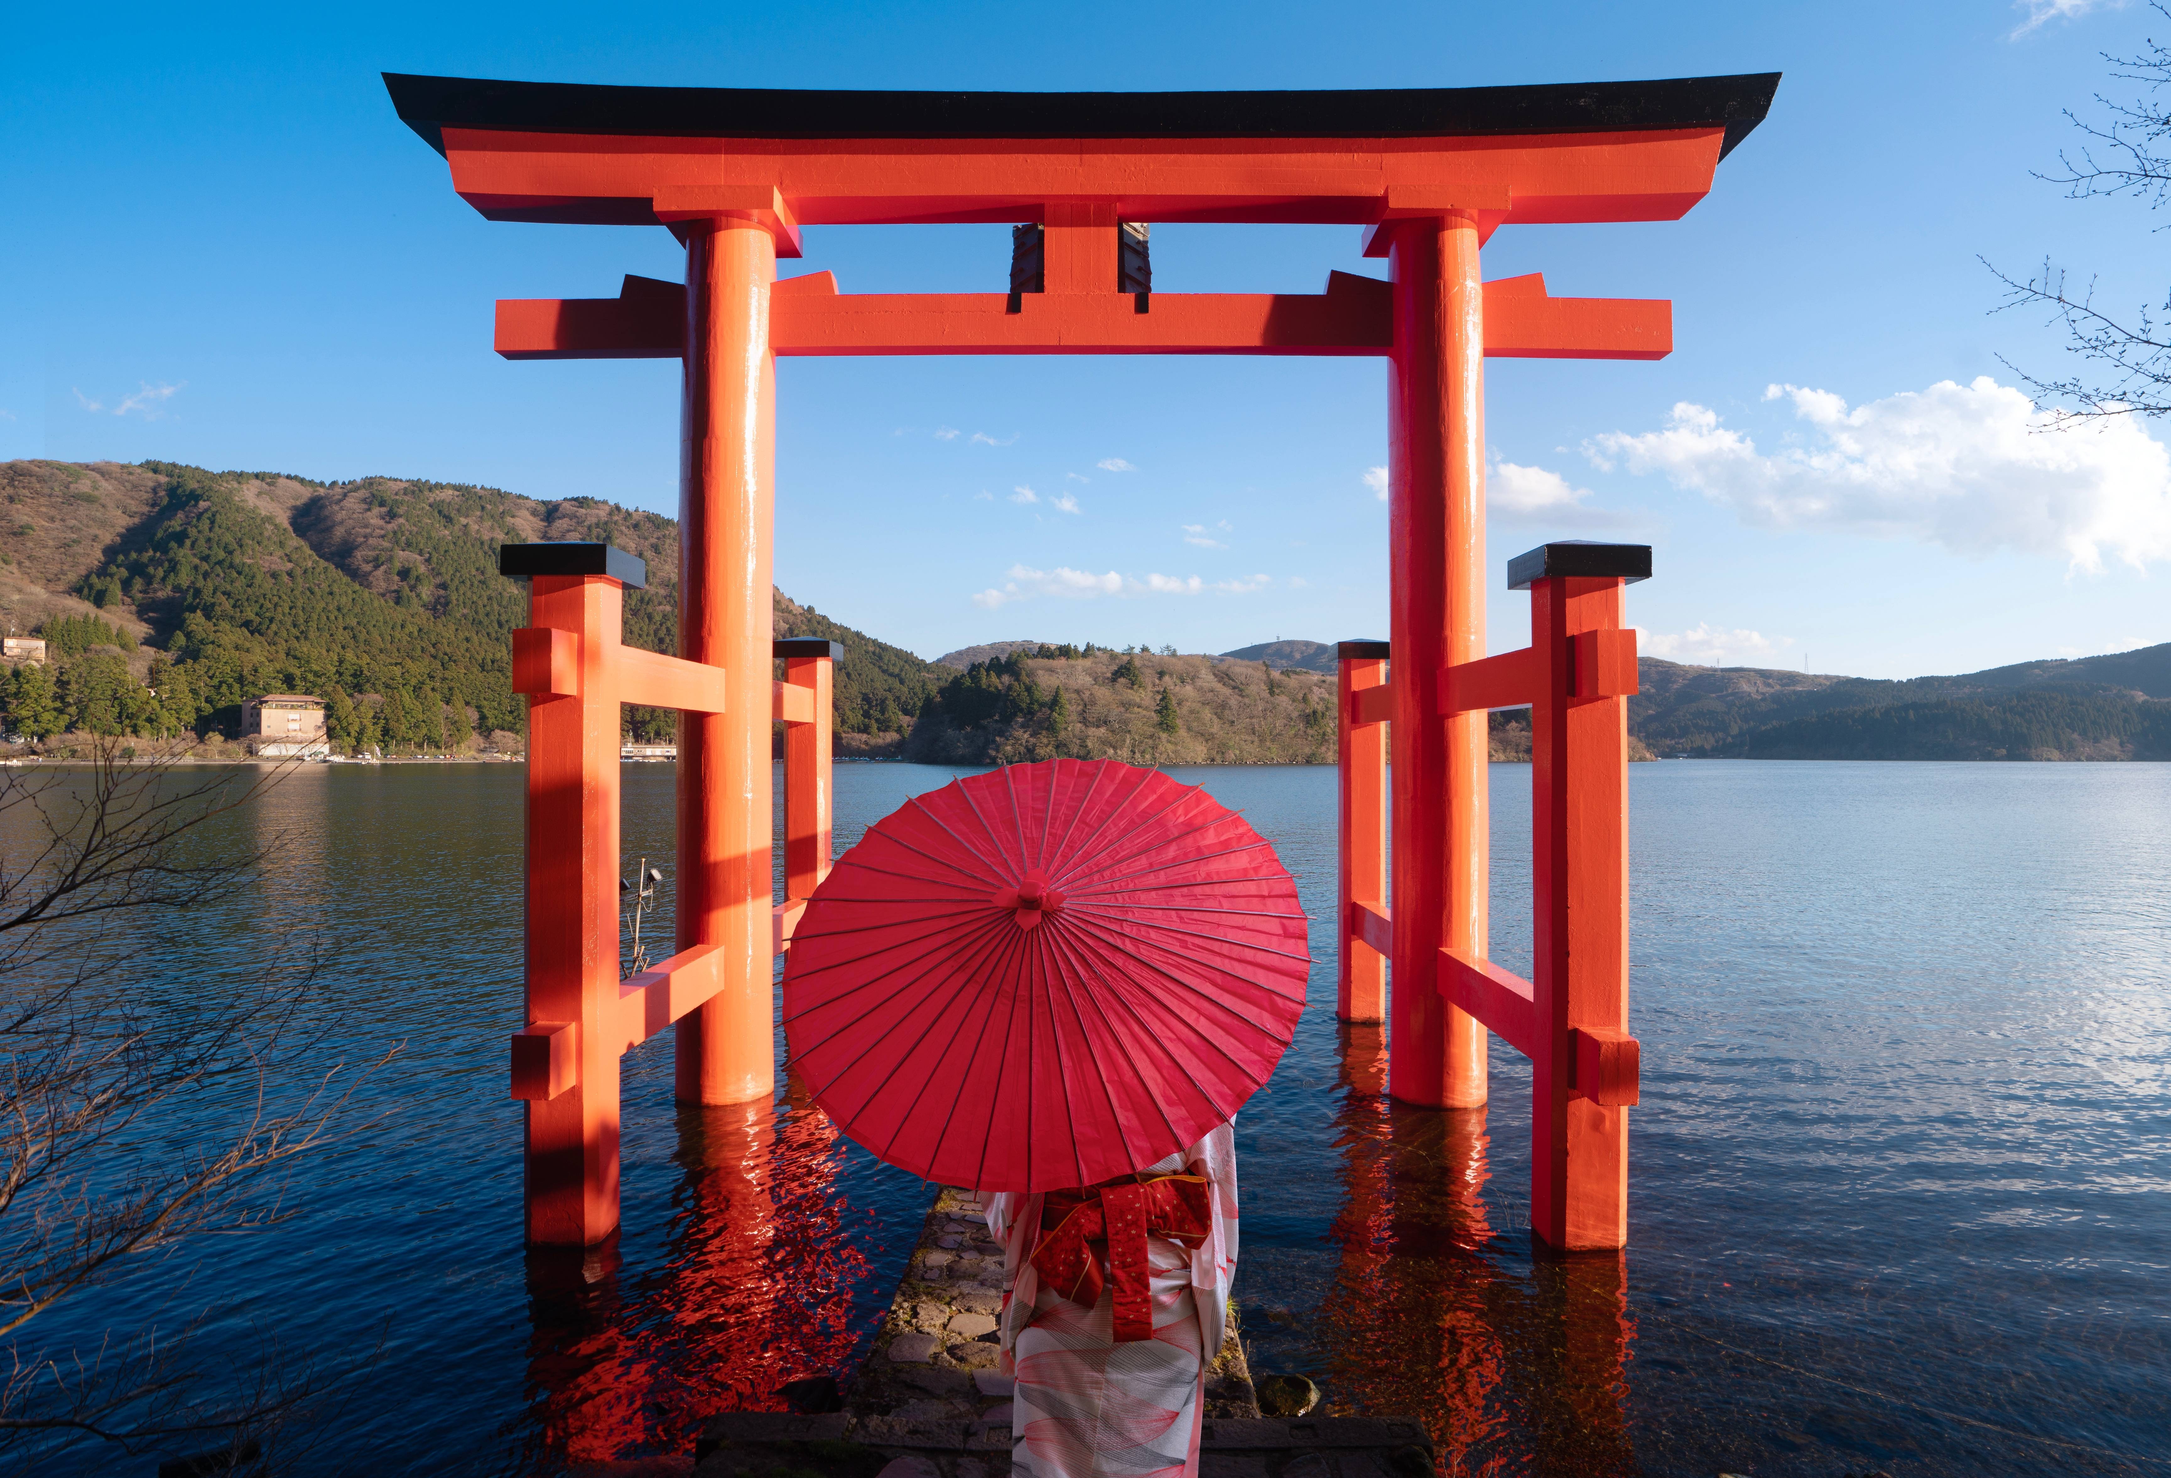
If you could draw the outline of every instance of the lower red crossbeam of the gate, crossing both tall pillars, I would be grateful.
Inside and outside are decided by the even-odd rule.
[[[619,297],[506,297],[506,358],[680,358],[684,289],[627,278]],[[1016,304],[1016,310],[1012,308]],[[1144,310],[1142,310],[1144,308]],[[1294,354],[1394,347],[1392,289],[1335,271],[1324,293],[838,293],[827,271],[777,282],[769,345],[782,356],[849,354]],[[1663,358],[1665,300],[1548,297],[1544,278],[1485,284],[1485,354]]]

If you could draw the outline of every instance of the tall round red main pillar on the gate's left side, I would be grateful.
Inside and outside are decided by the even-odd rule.
[[[677,946],[719,946],[721,990],[677,1024],[680,1103],[775,1092],[771,1040],[771,540],[777,247],[740,219],[684,221],[680,655],[725,671],[725,712],[680,721]]]

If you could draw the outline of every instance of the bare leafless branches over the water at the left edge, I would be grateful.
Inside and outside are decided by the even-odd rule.
[[[169,755],[178,757],[178,755]],[[337,1133],[356,1079],[304,1074],[315,948],[258,961],[254,988],[145,1001],[132,961],[161,914],[226,903],[269,842],[215,836],[284,775],[119,760],[0,773],[0,1465],[69,1448],[226,1452],[263,1471],[332,1380],[263,1339],[254,1363],[200,1356],[206,1320],[46,1348],[39,1315],[189,1239],[293,1215],[284,1170]],[[219,1137],[174,1150],[161,1109],[232,1105]],[[208,1469],[206,1469],[208,1471]]]

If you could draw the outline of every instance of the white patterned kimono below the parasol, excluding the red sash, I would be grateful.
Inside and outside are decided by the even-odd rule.
[[[1044,1194],[981,1196],[988,1231],[1003,1244],[1001,1369],[1018,1380],[1010,1419],[1018,1478],[1198,1471],[1205,1367],[1220,1354],[1235,1280],[1231,1126],[1207,1131],[1148,1174],[1203,1174],[1209,1205],[1196,1250],[1146,1237],[1151,1339],[1116,1339],[1116,1276],[1105,1276],[1092,1309],[1046,1287],[1031,1263]]]

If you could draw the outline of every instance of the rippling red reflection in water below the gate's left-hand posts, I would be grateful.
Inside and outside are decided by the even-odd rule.
[[[551,1469],[693,1450],[719,1411],[782,1411],[777,1389],[853,1363],[879,1309],[814,1107],[680,1109],[669,1257],[625,1287],[617,1248],[528,1254],[530,1406],[521,1445]]]

